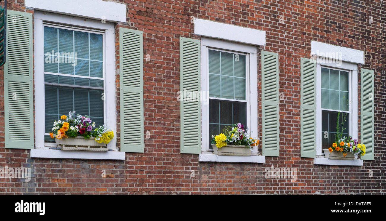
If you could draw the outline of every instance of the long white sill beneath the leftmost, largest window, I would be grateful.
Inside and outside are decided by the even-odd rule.
[[[51,150],[51,149],[31,149],[31,158],[124,160],[125,152],[62,151],[62,150]]]

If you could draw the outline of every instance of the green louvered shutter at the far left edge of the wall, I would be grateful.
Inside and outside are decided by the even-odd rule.
[[[32,14],[7,10],[5,148],[34,148]]]

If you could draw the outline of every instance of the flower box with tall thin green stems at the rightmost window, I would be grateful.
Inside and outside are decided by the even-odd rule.
[[[332,147],[328,149],[323,149],[324,155],[328,159],[344,159],[344,160],[353,160],[359,159],[366,153],[366,146],[360,144],[357,139],[352,140],[352,137],[348,136],[342,137],[344,122],[346,117],[344,116],[343,123],[339,122],[340,112],[337,117],[337,126],[335,134],[335,142],[332,144]]]

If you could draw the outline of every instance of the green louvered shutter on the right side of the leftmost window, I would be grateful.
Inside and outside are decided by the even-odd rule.
[[[119,28],[121,151],[144,152],[142,31]]]

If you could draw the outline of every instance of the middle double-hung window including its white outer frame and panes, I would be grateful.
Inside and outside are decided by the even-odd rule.
[[[257,137],[256,53],[254,45],[201,38],[202,152],[212,151],[211,136],[232,124]]]

